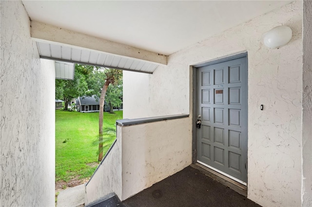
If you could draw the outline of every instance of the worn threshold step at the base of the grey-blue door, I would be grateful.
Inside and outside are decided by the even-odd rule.
[[[205,175],[211,177],[215,181],[223,184],[224,186],[227,186],[228,188],[233,189],[235,192],[247,197],[247,186],[238,183],[237,181],[232,180],[231,178],[228,178],[225,175],[222,175],[221,173],[216,172],[215,170],[212,170],[210,168],[207,168],[206,166],[203,166],[199,163],[192,164],[192,168],[198,169]]]

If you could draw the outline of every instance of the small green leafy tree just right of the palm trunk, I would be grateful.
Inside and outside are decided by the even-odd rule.
[[[110,106],[110,113],[114,113],[113,107],[120,107],[121,105],[121,97],[122,97],[122,84],[109,85],[105,99],[106,103]]]

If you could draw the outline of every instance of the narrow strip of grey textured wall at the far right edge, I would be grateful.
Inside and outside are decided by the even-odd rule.
[[[303,2],[302,206],[312,206],[312,1]]]

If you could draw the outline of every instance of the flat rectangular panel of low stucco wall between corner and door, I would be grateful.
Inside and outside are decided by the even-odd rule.
[[[192,164],[190,124],[180,118],[122,127],[121,200]]]

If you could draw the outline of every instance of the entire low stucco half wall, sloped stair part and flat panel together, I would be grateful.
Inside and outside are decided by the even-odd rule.
[[[117,142],[86,185],[85,205],[115,192],[125,200],[192,163],[190,125],[181,118],[117,126]],[[121,150],[122,149],[122,150]]]

